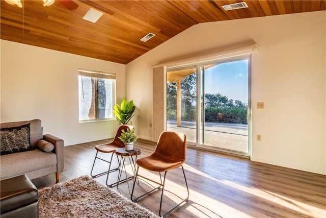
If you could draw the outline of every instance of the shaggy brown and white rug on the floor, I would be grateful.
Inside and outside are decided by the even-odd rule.
[[[89,176],[39,190],[39,216],[158,217]]]

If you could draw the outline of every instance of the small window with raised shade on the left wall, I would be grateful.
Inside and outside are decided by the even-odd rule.
[[[116,75],[78,69],[79,122],[113,119]]]

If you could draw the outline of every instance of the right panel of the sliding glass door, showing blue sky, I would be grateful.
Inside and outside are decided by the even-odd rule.
[[[201,147],[249,153],[249,59],[199,66]]]

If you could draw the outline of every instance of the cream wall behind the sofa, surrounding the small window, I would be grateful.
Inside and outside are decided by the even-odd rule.
[[[78,68],[114,72],[125,98],[125,65],[1,40],[1,123],[39,118],[65,145],[113,137],[119,123],[78,122]]]

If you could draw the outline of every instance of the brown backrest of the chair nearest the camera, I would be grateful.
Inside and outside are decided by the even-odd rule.
[[[160,134],[155,153],[174,161],[182,161],[186,158],[187,139],[185,134],[172,131],[164,131]]]

